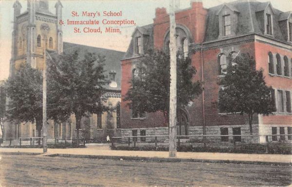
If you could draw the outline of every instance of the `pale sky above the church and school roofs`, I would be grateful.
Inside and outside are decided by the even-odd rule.
[[[191,0],[180,0],[180,8],[190,7]],[[224,2],[234,0],[202,0],[205,8],[217,6]],[[258,0],[265,2],[268,0]],[[292,11],[292,0],[270,0],[273,7],[283,12]],[[0,80],[9,76],[9,61],[11,58],[11,38],[13,29],[13,3],[15,0],[0,0]],[[27,9],[27,0],[19,0],[22,5],[21,13]],[[56,0],[49,0],[49,10],[55,14]],[[63,5],[62,25],[63,42],[72,42],[94,47],[108,48],[126,52],[131,35],[137,26],[153,23],[155,8],[165,7],[168,12],[168,0],[61,0]],[[75,11],[79,17],[73,17]],[[82,17],[82,12],[99,12],[100,17]],[[122,12],[120,17],[104,17],[103,12]],[[81,33],[74,33],[76,25],[66,24],[66,20],[133,20],[135,24],[120,26],[121,33],[83,33],[83,27],[79,26]],[[90,26],[104,31],[103,25]]]

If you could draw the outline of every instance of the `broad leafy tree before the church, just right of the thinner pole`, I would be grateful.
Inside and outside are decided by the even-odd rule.
[[[103,104],[107,99],[103,87],[109,83],[104,76],[104,62],[104,56],[89,52],[81,56],[78,51],[63,53],[49,62],[52,64],[50,68],[55,69],[50,79],[57,83],[54,97],[62,105],[59,110],[65,116],[75,114],[77,145],[81,118],[88,113],[97,114],[109,109]]]

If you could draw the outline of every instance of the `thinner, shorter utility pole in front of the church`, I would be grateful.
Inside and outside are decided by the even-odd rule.
[[[43,152],[47,152],[47,39],[44,37],[44,66],[43,66]]]

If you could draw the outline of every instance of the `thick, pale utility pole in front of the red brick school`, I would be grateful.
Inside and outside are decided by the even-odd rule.
[[[169,96],[169,157],[176,157],[176,108],[177,108],[177,51],[176,51],[176,23],[175,23],[175,0],[169,2],[170,22],[170,96]]]

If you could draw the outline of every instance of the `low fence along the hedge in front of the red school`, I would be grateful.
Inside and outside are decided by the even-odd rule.
[[[167,147],[168,135],[153,136],[120,136],[112,137],[112,147]],[[227,137],[227,138],[226,138]],[[260,141],[261,137],[261,141]],[[261,149],[267,152],[272,142],[292,143],[292,134],[266,134],[266,135],[177,135],[177,147],[189,145],[192,147],[229,147],[233,149]],[[277,141],[274,141],[274,140]],[[142,140],[142,141],[141,141]],[[261,143],[265,142],[265,143]],[[292,145],[292,144],[291,144]],[[252,152],[253,150],[251,150]]]

